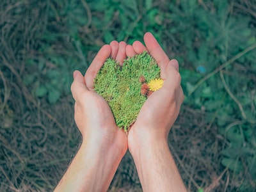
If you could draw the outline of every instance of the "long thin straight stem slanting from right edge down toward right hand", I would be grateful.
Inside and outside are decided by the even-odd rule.
[[[204,83],[204,81],[206,81],[207,79],[209,79],[211,76],[214,76],[216,73],[220,72],[220,70],[222,70],[223,68],[227,67],[228,65],[230,65],[231,63],[233,63],[234,61],[236,61],[237,59],[241,58],[241,56],[243,56],[244,54],[246,54],[247,52],[252,51],[253,49],[256,48],[256,44],[252,44],[250,47],[247,47],[246,49],[244,49],[244,51],[239,52],[238,54],[236,54],[234,57],[232,57],[230,60],[228,60],[226,63],[224,63],[223,65],[221,65],[220,67],[216,68],[215,70],[213,70],[211,73],[207,74],[207,76],[204,76],[202,79],[200,79],[200,81],[198,81],[198,83],[195,84],[195,86],[192,88],[192,90],[188,93],[188,95],[190,96],[192,93],[195,92],[195,90],[198,88],[198,86],[200,86],[200,84]]]

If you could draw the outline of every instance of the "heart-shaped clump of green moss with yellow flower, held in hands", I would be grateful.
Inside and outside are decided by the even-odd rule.
[[[157,90],[156,82],[161,81],[159,88],[163,85],[159,78],[160,68],[147,52],[124,60],[122,67],[108,58],[94,79],[94,90],[108,102],[116,125],[127,132],[150,92]]]

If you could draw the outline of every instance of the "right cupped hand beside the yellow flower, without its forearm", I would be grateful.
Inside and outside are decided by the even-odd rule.
[[[131,57],[134,54],[148,51],[161,68],[164,85],[148,97],[136,122],[132,125],[128,135],[130,150],[138,144],[137,141],[167,140],[168,133],[179,115],[180,106],[184,100],[177,60],[168,58],[151,33],[145,33],[144,42],[146,46],[138,41],[127,45],[126,54]]]

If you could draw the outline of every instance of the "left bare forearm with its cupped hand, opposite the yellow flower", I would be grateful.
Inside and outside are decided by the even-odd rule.
[[[85,76],[75,71],[71,86],[75,121],[82,143],[54,191],[107,191],[118,164],[127,151],[127,136],[115,124],[107,102],[93,92],[93,79],[104,61],[124,61],[125,42],[104,45]]]

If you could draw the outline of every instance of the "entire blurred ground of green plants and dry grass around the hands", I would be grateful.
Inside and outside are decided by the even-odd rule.
[[[146,31],[179,60],[185,101],[170,148],[190,191],[256,188],[252,0],[0,3],[0,191],[51,191],[81,140],[70,94],[111,40]],[[127,153],[109,191],[141,191]]]

